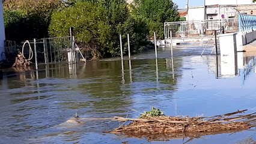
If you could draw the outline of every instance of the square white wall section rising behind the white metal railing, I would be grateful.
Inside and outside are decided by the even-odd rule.
[[[188,20],[204,20],[204,7],[189,7],[189,11],[187,12]]]

